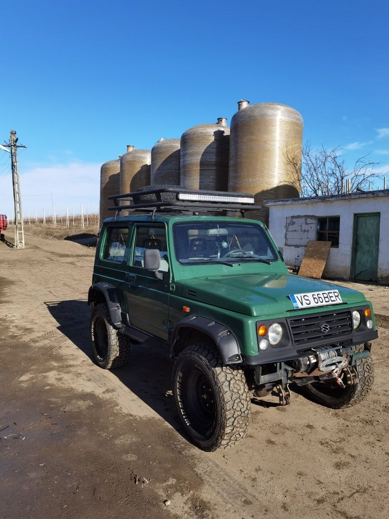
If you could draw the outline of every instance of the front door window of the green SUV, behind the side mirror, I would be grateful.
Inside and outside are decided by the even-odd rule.
[[[134,256],[132,265],[142,267],[146,249],[158,249],[161,257],[160,272],[169,271],[169,254],[164,227],[139,226],[136,230]]]

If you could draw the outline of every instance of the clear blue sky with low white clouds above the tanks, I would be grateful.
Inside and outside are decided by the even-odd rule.
[[[241,98],[281,102],[304,140],[389,170],[388,4],[18,2],[0,20],[0,142],[17,130],[24,212],[98,204],[100,165]],[[11,57],[13,58],[11,60]],[[0,212],[11,212],[0,150]],[[3,179],[3,180],[2,180]],[[389,179],[388,179],[389,180]],[[379,183],[382,187],[382,181]],[[39,195],[39,196],[37,196]]]

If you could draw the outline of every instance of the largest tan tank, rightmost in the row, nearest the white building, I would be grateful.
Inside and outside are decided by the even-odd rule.
[[[249,105],[238,102],[231,120],[228,189],[253,193],[262,204],[267,199],[299,197],[303,119],[297,110],[279,103]],[[300,169],[299,167],[297,169]],[[269,210],[246,213],[268,224]]]

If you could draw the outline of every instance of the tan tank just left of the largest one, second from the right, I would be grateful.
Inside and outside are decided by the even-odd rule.
[[[230,129],[227,119],[193,126],[181,136],[180,185],[188,189],[226,191]]]

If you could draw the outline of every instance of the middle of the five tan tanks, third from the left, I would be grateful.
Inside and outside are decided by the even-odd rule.
[[[160,139],[151,148],[151,185],[179,185],[179,147],[179,139]]]

